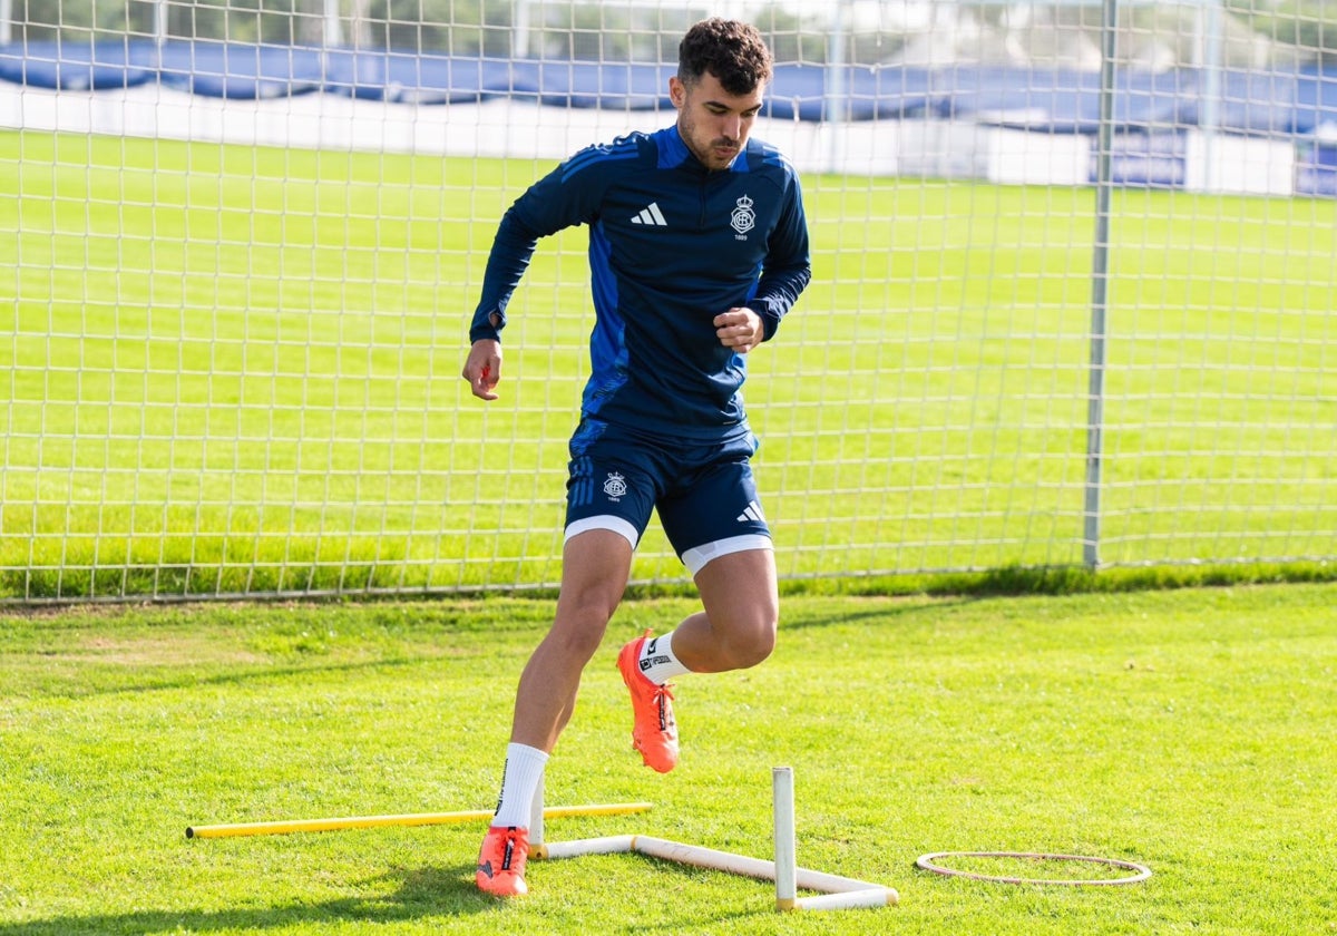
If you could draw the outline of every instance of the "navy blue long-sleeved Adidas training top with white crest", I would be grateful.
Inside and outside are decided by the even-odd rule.
[[[677,126],[582,150],[501,218],[469,341],[500,337],[539,238],[580,223],[595,306],[582,416],[667,439],[749,432],[746,356],[719,344],[713,320],[749,306],[769,340],[812,278],[793,166],[749,140],[713,172]]]

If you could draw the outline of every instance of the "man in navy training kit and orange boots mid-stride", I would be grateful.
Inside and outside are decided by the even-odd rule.
[[[695,24],[668,79],[675,126],[578,152],[497,229],[463,373],[473,396],[497,398],[505,306],[539,238],[590,226],[596,314],[570,445],[562,590],[516,693],[501,797],[479,856],[488,893],[528,891],[533,792],[652,511],[703,610],[618,657],[644,762],[663,773],[678,761],[668,679],[755,666],[775,645],[775,562],[739,388],[745,356],[775,334],[812,269],[794,170],[749,139],[770,78],[757,29]]]

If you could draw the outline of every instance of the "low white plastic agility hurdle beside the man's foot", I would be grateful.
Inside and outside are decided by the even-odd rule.
[[[607,836],[568,842],[544,841],[541,781],[539,789],[535,792],[531,810],[529,857],[555,860],[575,858],[582,854],[636,852],[652,858],[675,861],[694,868],[709,868],[762,881],[774,881],[777,911],[834,911],[860,907],[892,907],[900,900],[894,888],[800,868],[794,846],[793,768],[774,768],[771,770],[771,786],[775,813],[774,861],[750,858],[733,852],[719,852],[702,845],[685,845],[652,836]],[[810,897],[800,897],[798,891],[816,891],[818,893]]]

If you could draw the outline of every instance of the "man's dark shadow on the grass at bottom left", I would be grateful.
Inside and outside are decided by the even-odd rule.
[[[138,909],[124,913],[57,916],[24,923],[0,923],[0,936],[103,936],[104,933],[207,933],[265,931],[294,925],[361,921],[373,924],[437,916],[487,913],[500,901],[473,885],[473,865],[398,870],[390,895],[338,897],[318,903],[290,903],[246,909]]]

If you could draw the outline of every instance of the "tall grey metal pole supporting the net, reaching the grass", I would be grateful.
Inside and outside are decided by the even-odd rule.
[[[1110,290],[1110,195],[1114,146],[1114,56],[1118,0],[1104,0],[1100,29],[1100,124],[1096,132],[1095,242],[1091,250],[1091,360],[1087,394],[1087,471],[1082,562],[1100,564],[1100,485],[1104,459],[1106,320]]]

